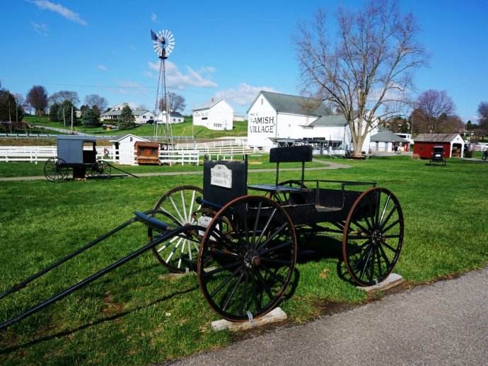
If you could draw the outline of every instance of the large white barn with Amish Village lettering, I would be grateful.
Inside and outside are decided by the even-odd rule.
[[[368,151],[369,138],[363,151]],[[337,154],[353,149],[344,116],[333,114],[321,101],[260,91],[248,110],[248,144],[270,148],[286,140],[303,140]]]

